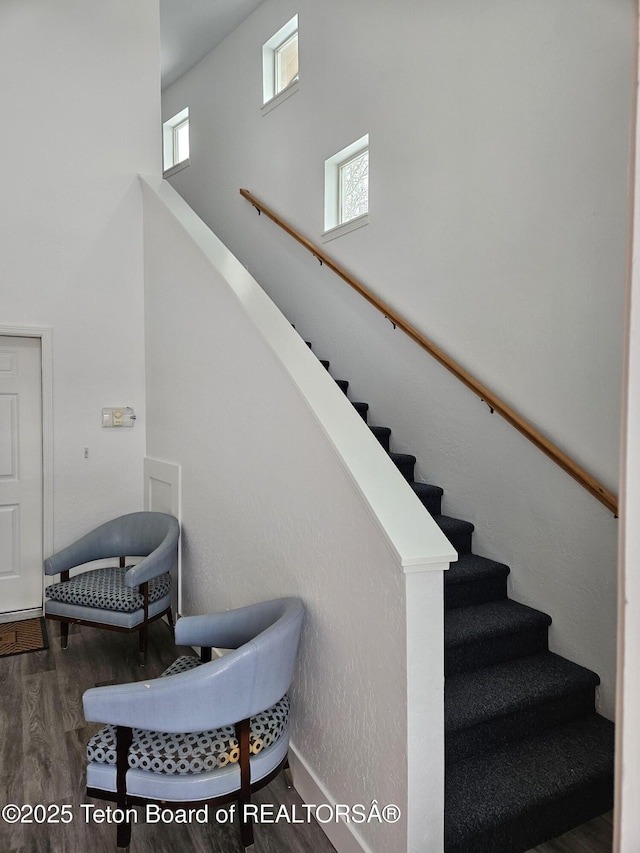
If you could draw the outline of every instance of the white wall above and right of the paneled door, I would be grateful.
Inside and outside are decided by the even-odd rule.
[[[157,6],[0,4],[0,322],[52,328],[55,547],[142,508],[137,173],[160,169]],[[101,429],[119,405],[134,429]]]

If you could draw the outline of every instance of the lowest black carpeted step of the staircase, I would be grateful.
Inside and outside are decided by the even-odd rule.
[[[524,853],[613,799],[613,724],[597,714],[448,768],[446,853]]]

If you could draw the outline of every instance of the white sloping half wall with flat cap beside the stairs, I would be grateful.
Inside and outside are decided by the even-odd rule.
[[[340,850],[439,850],[455,555],[246,270],[171,187],[143,185],[147,451],[181,466],[184,612],[300,596],[296,787],[401,808],[325,825]]]

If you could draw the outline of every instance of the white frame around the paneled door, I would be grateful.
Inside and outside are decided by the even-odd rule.
[[[12,338],[39,338],[42,370],[42,556],[53,553],[53,342],[49,326],[0,325],[0,335]],[[44,575],[43,575],[44,577]],[[43,605],[21,610],[21,616],[42,616]],[[14,614],[0,614],[1,622],[10,622]]]

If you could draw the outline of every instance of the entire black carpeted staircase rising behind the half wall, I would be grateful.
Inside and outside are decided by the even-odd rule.
[[[473,554],[473,525],[442,514],[443,490],[414,481],[388,427],[370,429],[459,555],[445,572],[445,853],[524,853],[613,805],[599,678],[548,650],[551,618],[507,597],[509,568]]]

